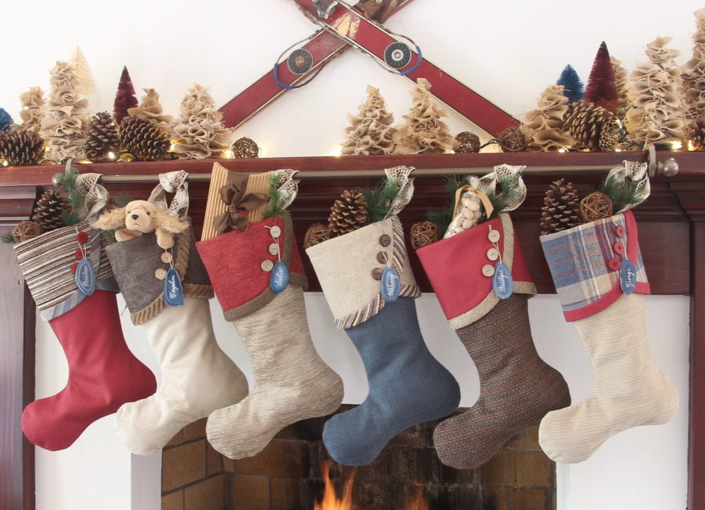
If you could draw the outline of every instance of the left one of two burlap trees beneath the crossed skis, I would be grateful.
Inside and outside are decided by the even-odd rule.
[[[348,115],[350,126],[345,128],[343,156],[391,154],[394,149],[394,116],[387,111],[379,89],[367,85],[367,101],[357,115]]]

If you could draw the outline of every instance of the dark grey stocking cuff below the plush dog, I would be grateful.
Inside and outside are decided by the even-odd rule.
[[[181,279],[185,297],[211,298],[213,288],[198,252],[192,249],[193,242],[191,228],[174,235],[173,267]],[[159,315],[168,306],[162,297],[163,277],[171,263],[162,258],[166,252],[157,244],[154,232],[114,242],[106,251],[133,323],[140,325]]]

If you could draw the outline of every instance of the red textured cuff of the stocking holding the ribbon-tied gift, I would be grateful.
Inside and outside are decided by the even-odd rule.
[[[275,226],[281,230],[278,246],[270,234],[270,228]],[[307,287],[293,223],[288,216],[274,216],[251,223],[244,232],[231,230],[199,241],[196,248],[227,321],[248,316],[274,299],[276,294],[269,287],[269,280],[271,267],[278,261],[278,250],[289,270],[289,285]]]

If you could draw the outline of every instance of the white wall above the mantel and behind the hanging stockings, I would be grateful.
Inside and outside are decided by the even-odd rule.
[[[683,52],[679,61],[685,62],[694,30],[692,12],[699,7],[697,1],[682,0],[658,10],[606,0],[560,4],[419,0],[386,25],[415,39],[430,61],[520,116],[532,108],[566,63],[587,80],[602,40],[613,56],[633,68],[644,60],[644,44],[657,35],[673,35],[672,46]],[[286,46],[313,31],[311,23],[284,0],[198,4],[124,0],[118,8],[87,0],[72,2],[70,7],[35,0],[11,2],[2,14],[0,106],[15,118],[19,94],[34,85],[48,89],[49,68],[57,59],[71,56],[76,45],[81,46],[97,82],[93,111],[112,108],[126,64],[135,87],[154,87],[166,112],[176,114],[192,82],[210,87],[216,103],[223,104],[268,72]],[[386,73],[357,51],[348,51],[307,87],[284,94],[245,123],[238,135],[253,137],[263,149],[262,156],[335,154],[347,125],[346,114],[364,100],[368,83],[381,89],[400,120],[410,106],[410,82]],[[454,113],[449,123],[454,132],[472,128]],[[560,466],[560,510],[685,506],[687,299],[652,297],[647,302],[649,340],[659,363],[679,387],[681,409],[669,425],[628,431],[584,464]],[[541,354],[565,373],[573,397],[580,399],[590,382],[589,364],[577,335],[560,318],[555,297],[537,297],[531,303]],[[353,384],[362,370],[359,356],[345,335],[332,327],[320,296],[308,295],[307,305],[309,317],[317,318],[311,326],[321,354],[348,383],[346,401],[360,402],[366,388],[360,381]],[[215,308],[214,316],[221,320]],[[478,394],[477,373],[465,363],[462,346],[448,330],[433,297],[423,297],[419,310],[431,350],[460,380],[462,404],[472,404]],[[129,323],[127,314],[123,322]],[[66,368],[62,373],[62,355],[46,325],[37,328],[37,397],[42,397],[63,387]],[[128,331],[131,347],[147,353],[142,331],[131,326]],[[216,333],[221,342],[230,344],[228,352],[243,359],[242,346],[228,340],[233,334],[230,325],[216,324]],[[145,356],[149,358],[148,353]],[[37,449],[39,510],[92,509],[97,501],[108,510],[158,508],[158,461],[135,459],[121,450],[110,421],[105,418],[92,425],[66,452]],[[145,483],[132,484],[130,492],[133,478]],[[150,488],[149,495],[140,492]]]

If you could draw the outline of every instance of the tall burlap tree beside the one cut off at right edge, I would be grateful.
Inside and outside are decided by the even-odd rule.
[[[670,37],[656,37],[646,45],[649,62],[640,63],[630,75],[627,111],[630,137],[639,144],[682,139],[685,121],[680,99],[680,68],[674,58],[680,53],[668,49]]]

